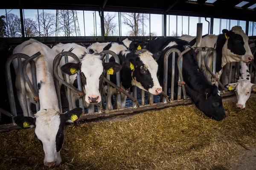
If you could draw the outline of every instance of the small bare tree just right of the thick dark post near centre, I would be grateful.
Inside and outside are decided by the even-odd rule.
[[[113,22],[113,19],[116,17],[116,14],[109,14],[104,16],[104,32],[105,36],[109,36],[111,33],[113,35],[114,32],[116,32],[116,23]]]

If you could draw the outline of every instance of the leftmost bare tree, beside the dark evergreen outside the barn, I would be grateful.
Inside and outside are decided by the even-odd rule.
[[[15,14],[7,14],[7,24],[9,37],[21,37],[19,28],[21,27],[20,18]]]

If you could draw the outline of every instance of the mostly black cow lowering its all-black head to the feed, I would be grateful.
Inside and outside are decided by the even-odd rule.
[[[177,48],[181,52],[186,48],[191,48],[189,42],[180,40],[175,37],[165,37],[157,40],[151,40],[148,42],[146,49],[155,53],[156,51],[162,51],[160,59],[157,61],[159,65],[158,76],[159,81],[163,84],[163,65],[164,56],[166,52],[171,48]],[[167,89],[171,88],[172,79],[172,54],[168,59],[168,78]],[[178,68],[177,68],[178,55],[175,53],[175,94],[177,96],[177,82],[178,82]],[[206,116],[215,120],[222,120],[225,117],[224,108],[222,105],[222,99],[218,93],[216,85],[211,85],[204,76],[201,69],[198,67],[198,61],[196,59],[195,51],[190,50],[183,55],[183,80],[186,82],[186,93],[196,107],[201,110]],[[175,97],[177,99],[177,97]]]

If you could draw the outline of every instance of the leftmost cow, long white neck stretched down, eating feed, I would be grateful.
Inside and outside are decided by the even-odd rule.
[[[29,112],[29,117],[16,116],[15,123],[20,127],[35,126],[35,137],[37,137],[44,149],[44,165],[47,167],[57,166],[61,163],[60,151],[64,141],[64,124],[66,121],[71,121],[71,116],[79,118],[82,113],[81,108],[75,108],[72,111],[61,114],[58,106],[58,98],[55,91],[52,62],[55,57],[54,52],[47,45],[44,45],[37,40],[27,40],[20,45],[17,45],[13,50],[13,54],[23,53],[28,56],[41,52],[41,55],[34,59],[36,65],[36,79],[38,82],[38,91],[40,99],[40,110],[32,114]],[[24,60],[23,60],[24,61]],[[16,74],[17,96],[23,107],[23,94],[21,93],[20,74],[18,69],[17,59],[12,62]],[[31,78],[30,65],[27,67],[27,74]],[[60,75],[61,76],[61,75]],[[26,97],[28,106],[33,102],[33,94],[26,84]],[[23,110],[24,112],[24,110]]]

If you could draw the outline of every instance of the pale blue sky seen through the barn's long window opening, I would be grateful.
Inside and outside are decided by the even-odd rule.
[[[7,13],[13,13],[18,16],[20,16],[19,9],[0,9],[0,15],[5,15]],[[42,9],[24,9],[24,17],[25,18],[31,18],[34,21],[36,21],[37,12],[42,13]],[[56,10],[44,10],[44,12],[53,13],[56,14]],[[84,36],[84,28],[85,28],[85,36],[92,36],[93,34],[93,13],[95,11],[77,11],[78,21],[79,21],[79,28],[81,36]],[[84,13],[84,16],[83,16]],[[106,15],[108,12],[105,11],[104,14]],[[109,14],[113,15],[116,14],[115,19],[113,20],[115,23],[117,23],[118,26],[118,13],[117,12],[109,12]],[[176,20],[177,19],[177,20]],[[207,18],[207,20],[210,21],[210,18]],[[122,18],[121,18],[122,21]],[[174,15],[167,15],[167,36],[172,36],[173,32],[176,33],[176,21],[177,21],[177,36],[180,36],[183,34],[189,34],[192,36],[196,36],[196,27],[197,23],[201,22],[203,23],[203,35],[208,34],[208,23],[205,21],[204,17],[187,17],[187,16],[174,16]],[[182,22],[183,21],[183,22]],[[163,28],[162,28],[162,22],[163,22],[163,16],[161,14],[151,14],[151,25],[149,26],[149,21],[145,21],[144,30],[146,32],[145,35],[149,34],[149,28],[150,31],[156,34],[157,36],[163,36]],[[99,12],[96,11],[96,33],[97,36],[101,35],[100,30],[100,17]],[[189,24],[188,24],[189,23]],[[238,21],[238,20],[225,20],[225,19],[214,19],[214,25],[213,25],[213,34],[220,34],[222,29],[228,29],[230,30],[232,26],[239,25],[243,28],[245,31],[245,21]],[[221,25],[221,29],[220,29]],[[249,36],[252,35],[252,24],[250,23],[249,26]],[[128,26],[125,26],[123,23],[121,25],[122,28],[122,35],[126,36],[128,35]],[[116,31],[113,33],[114,36],[119,36],[119,28],[116,28]],[[256,35],[256,29],[254,29],[254,34]],[[55,36],[55,35],[54,35]]]

